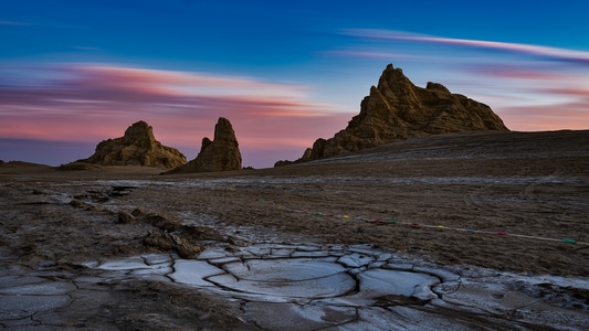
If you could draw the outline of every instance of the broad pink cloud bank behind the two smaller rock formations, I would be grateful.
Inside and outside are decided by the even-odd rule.
[[[111,65],[35,71],[30,82],[0,85],[0,137],[98,142],[144,119],[158,140],[192,158],[223,116],[234,126],[244,160],[249,151],[290,149],[277,160],[299,157],[350,117],[335,105],[308,100],[304,86],[249,77]]]

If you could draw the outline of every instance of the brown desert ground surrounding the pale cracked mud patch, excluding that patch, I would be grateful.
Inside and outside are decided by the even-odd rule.
[[[211,247],[362,245],[459,274],[482,268],[522,277],[589,277],[589,131],[453,134],[281,168],[160,173],[1,164],[0,327],[280,329],[277,322],[249,318],[235,300],[151,278],[101,280],[93,267],[146,254],[196,258]],[[176,238],[172,244],[166,244],[167,234]],[[31,290],[35,284],[72,289],[63,291],[63,305],[28,310],[14,288]],[[505,311],[467,314],[440,307],[428,313],[462,329],[582,330],[589,289],[550,288],[534,302],[548,302],[556,292],[574,301],[554,308],[566,309],[557,318],[533,321]],[[423,300],[396,302],[430,309]],[[391,311],[382,302],[378,309]],[[355,329],[350,325],[301,329]],[[423,327],[407,320],[407,329],[435,329]]]

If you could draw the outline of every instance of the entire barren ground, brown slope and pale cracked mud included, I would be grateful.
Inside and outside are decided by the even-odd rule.
[[[588,136],[530,135],[185,177],[3,166],[0,325],[585,330]]]

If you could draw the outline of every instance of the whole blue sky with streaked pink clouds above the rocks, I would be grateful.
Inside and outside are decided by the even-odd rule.
[[[517,131],[589,129],[589,2],[0,0],[0,160],[59,166],[147,121],[194,159],[295,160],[392,63]]]

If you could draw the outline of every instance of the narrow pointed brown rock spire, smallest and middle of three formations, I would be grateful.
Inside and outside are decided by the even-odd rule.
[[[194,160],[173,169],[171,172],[215,172],[241,170],[241,152],[231,122],[220,117],[214,126],[211,141],[204,137],[202,147]]]

